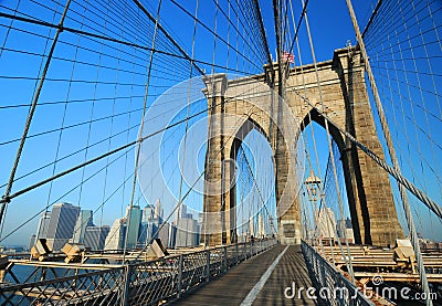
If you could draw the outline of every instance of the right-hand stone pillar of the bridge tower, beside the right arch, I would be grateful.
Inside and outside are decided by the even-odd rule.
[[[334,65],[340,80],[347,131],[385,159],[367,94],[365,70],[359,52],[335,53]],[[389,175],[349,140],[345,141],[343,166],[358,243],[387,245],[403,238],[391,191]],[[351,184],[351,187],[349,186]],[[355,231],[356,232],[356,231]],[[360,240],[359,240],[360,239]]]

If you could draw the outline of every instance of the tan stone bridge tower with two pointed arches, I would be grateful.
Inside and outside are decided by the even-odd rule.
[[[327,116],[383,158],[359,51],[336,50],[333,60],[318,63],[317,67]],[[296,192],[285,197],[303,179],[291,179],[293,173],[303,175],[296,173],[299,160],[291,150],[312,120],[324,126],[324,118],[304,98],[318,109],[322,101],[313,64],[283,73],[284,102],[275,94],[280,85],[275,70],[277,65],[267,65],[262,75],[228,81],[224,74],[217,74],[204,80],[209,137],[202,239],[207,244],[236,241],[234,160],[242,139],[253,128],[267,139],[273,151],[281,242],[301,242],[299,199]],[[276,91],[266,89],[264,84]],[[387,245],[403,238],[388,173],[330,125],[329,131],[341,156],[355,242]]]

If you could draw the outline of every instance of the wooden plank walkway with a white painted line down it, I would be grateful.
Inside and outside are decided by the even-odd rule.
[[[276,245],[172,305],[327,305],[308,298],[305,289],[301,298],[285,298],[284,291],[293,282],[295,288],[312,287],[301,246]]]

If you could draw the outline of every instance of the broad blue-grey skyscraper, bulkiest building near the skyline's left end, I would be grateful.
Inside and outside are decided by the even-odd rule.
[[[70,203],[56,203],[52,208],[48,229],[48,244],[53,251],[60,251],[72,238],[80,208]]]

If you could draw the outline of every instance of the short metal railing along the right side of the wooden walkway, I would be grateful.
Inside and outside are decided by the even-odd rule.
[[[375,305],[309,244],[302,241],[301,247],[312,282],[322,299],[329,305]]]

